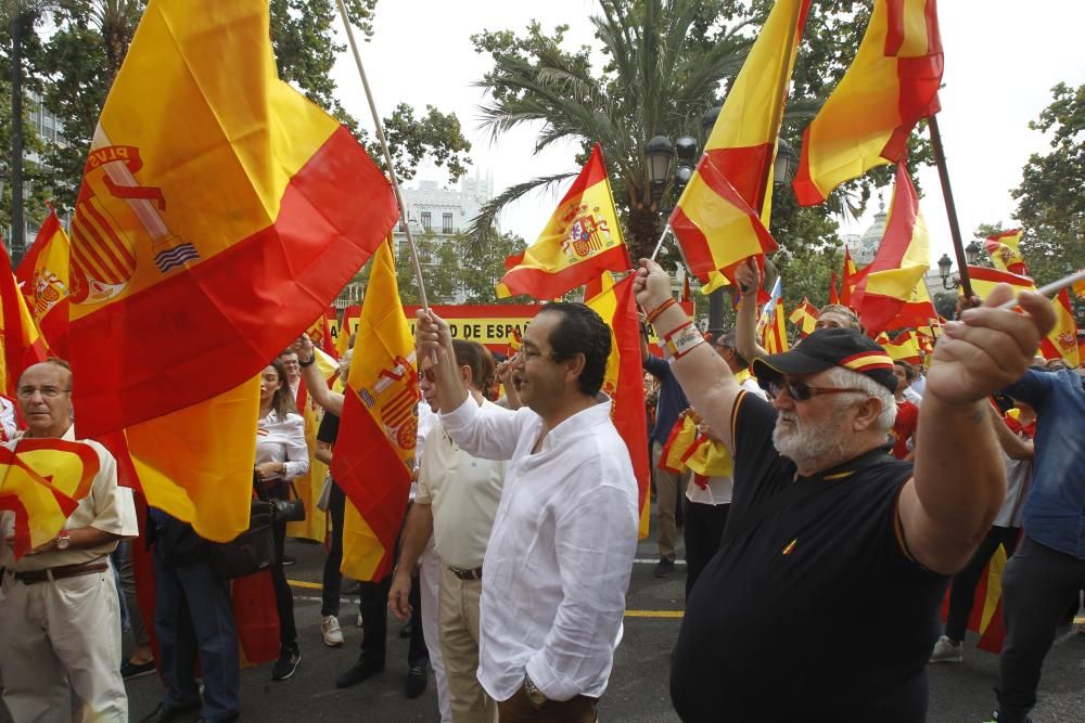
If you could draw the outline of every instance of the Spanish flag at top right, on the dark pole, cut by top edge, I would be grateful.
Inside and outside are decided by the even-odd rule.
[[[800,205],[901,160],[911,129],[941,108],[942,65],[935,0],[875,0],[852,66],[803,134]]]

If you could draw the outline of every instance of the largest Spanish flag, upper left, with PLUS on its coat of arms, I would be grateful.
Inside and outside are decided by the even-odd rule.
[[[396,216],[349,131],[277,77],[267,0],[151,0],[73,221],[80,434],[255,377]]]

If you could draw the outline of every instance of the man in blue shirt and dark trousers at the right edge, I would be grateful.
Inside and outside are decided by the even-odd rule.
[[[1024,538],[1003,576],[1006,642],[998,723],[1027,721],[1055,631],[1085,588],[1085,379],[1030,370],[1006,393],[1036,409],[1036,467]]]

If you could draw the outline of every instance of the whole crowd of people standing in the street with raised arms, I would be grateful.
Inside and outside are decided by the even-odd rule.
[[[894,362],[839,305],[791,351],[767,353],[755,340],[762,280],[753,264],[738,275],[736,327],[706,339],[660,267],[636,271],[642,322],[663,351],[653,354],[646,334],[656,577],[675,572],[679,527],[685,534],[686,612],[669,677],[677,714],[924,720],[928,664],[962,660],[974,590],[1001,546],[1011,557],[994,720],[1029,720],[1056,629],[1085,588],[1085,383],[1081,370],[1034,359],[1050,305],[1023,293],[1018,311],[1000,309],[1010,298],[1000,287],[962,308],[917,369]],[[384,669],[391,614],[409,623],[405,693],[422,695],[432,668],[443,721],[591,723],[622,640],[639,521],[634,465],[601,392],[610,330],[585,305],[548,304],[518,353],[497,363],[432,312],[420,310],[416,328],[417,485],[394,571],[352,593],[361,646],[335,684]],[[297,496],[292,480],[310,456],[335,454],[344,396],[315,361],[303,336],[260,375],[253,498],[271,506]],[[348,351],[343,377],[350,362]],[[17,387],[26,429],[9,448],[74,440],[71,388],[60,360],[27,369]],[[302,389],[323,412],[312,449]],[[731,474],[664,468],[687,416]],[[14,515],[0,518],[4,705],[16,723],[127,721],[125,679],[157,671],[162,701],[146,720],[196,710],[237,720],[246,656],[213,545],[161,509],[144,514],[110,453],[86,443],[100,468],[54,540],[16,561]],[[346,496],[331,478],[326,492],[320,632],[342,647]],[[284,572],[286,522],[272,520],[279,636],[269,676],[282,682],[304,646]],[[153,553],[149,621],[135,596],[133,545]],[[123,628],[135,642],[127,659]],[[842,638],[879,644],[856,656]]]

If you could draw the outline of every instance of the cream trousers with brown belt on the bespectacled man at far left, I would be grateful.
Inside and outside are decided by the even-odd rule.
[[[3,701],[16,723],[127,723],[113,570],[0,588]],[[72,692],[81,710],[72,714]]]

